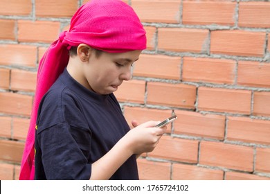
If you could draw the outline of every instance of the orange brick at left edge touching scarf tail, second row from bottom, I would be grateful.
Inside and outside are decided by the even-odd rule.
[[[0,160],[21,162],[24,152],[24,143],[0,139]]]

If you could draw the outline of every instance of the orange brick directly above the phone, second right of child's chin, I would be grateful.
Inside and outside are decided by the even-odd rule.
[[[183,84],[148,82],[147,103],[194,109],[196,87]]]

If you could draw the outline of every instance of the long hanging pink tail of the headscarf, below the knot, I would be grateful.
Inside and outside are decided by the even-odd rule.
[[[35,175],[35,130],[37,130],[37,111],[42,97],[53,85],[55,80],[64,71],[69,62],[68,49],[62,45],[62,33],[60,39],[53,42],[50,48],[40,60],[37,70],[37,86],[35,100],[30,118],[30,126],[24,148],[23,158],[21,160],[21,171],[19,179],[34,179]],[[61,59],[61,60],[60,60]],[[56,63],[53,63],[56,62]]]

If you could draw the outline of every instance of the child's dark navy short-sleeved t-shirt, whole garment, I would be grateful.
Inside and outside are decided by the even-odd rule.
[[[89,91],[65,69],[39,105],[35,179],[89,179],[91,164],[128,131],[114,94]],[[111,179],[138,179],[136,156]]]

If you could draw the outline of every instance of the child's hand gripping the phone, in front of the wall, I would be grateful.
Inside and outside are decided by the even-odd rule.
[[[143,152],[152,152],[159,143],[159,139],[165,133],[167,127],[154,127],[160,121],[148,121],[138,125],[137,121],[132,121],[134,129],[130,130],[125,139],[129,142],[129,149],[133,154],[141,154]]]

